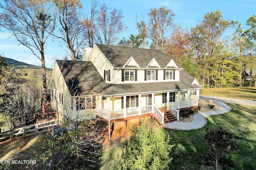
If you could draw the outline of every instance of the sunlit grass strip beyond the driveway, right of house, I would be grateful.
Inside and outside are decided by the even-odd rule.
[[[245,100],[256,100],[256,87],[249,88],[205,88],[202,95]]]

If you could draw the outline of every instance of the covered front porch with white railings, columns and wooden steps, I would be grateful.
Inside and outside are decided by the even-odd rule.
[[[151,114],[160,125],[170,123],[174,116],[179,120],[180,110],[198,106],[199,90],[140,94],[134,96],[102,97],[99,108],[100,117],[110,122],[136,119]],[[118,108],[119,107],[119,108]],[[170,114],[170,115],[168,115]]]

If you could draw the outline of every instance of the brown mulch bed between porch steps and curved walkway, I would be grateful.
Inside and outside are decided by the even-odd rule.
[[[181,122],[192,122],[194,115],[197,113],[204,113],[208,111],[214,111],[220,109],[214,101],[212,100],[200,100],[199,101],[200,109],[180,111],[180,121]]]

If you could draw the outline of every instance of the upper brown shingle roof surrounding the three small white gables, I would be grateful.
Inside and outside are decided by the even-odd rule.
[[[122,68],[132,57],[140,68],[146,68],[154,58],[161,68],[165,68],[171,58],[160,50],[138,49],[131,47],[118,47],[112,45],[96,44],[114,68]],[[178,63],[177,68],[183,69]]]

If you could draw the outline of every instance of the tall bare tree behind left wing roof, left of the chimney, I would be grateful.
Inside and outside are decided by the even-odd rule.
[[[84,24],[80,21],[82,4],[80,0],[54,0],[60,24],[60,35],[54,36],[61,39],[69,49],[73,61],[80,59],[79,50],[85,45],[87,39]]]

